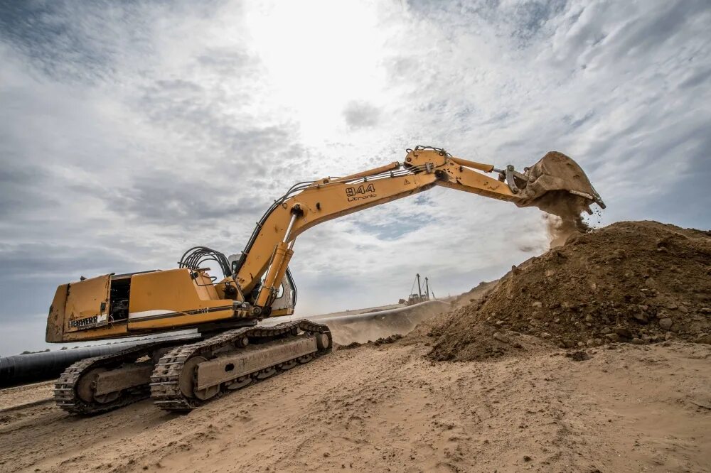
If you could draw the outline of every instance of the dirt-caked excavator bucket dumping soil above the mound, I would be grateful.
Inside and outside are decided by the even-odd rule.
[[[605,208],[578,163],[557,151],[547,153],[538,163],[525,168],[523,174],[509,166],[501,177],[520,197],[518,207],[538,207],[564,219],[582,211],[592,214],[589,207],[593,203]]]

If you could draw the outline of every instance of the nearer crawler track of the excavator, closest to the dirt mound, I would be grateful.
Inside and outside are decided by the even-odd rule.
[[[259,343],[260,341],[263,342],[266,340],[287,339],[288,337],[294,337],[296,332],[299,330],[307,333],[327,335],[328,347],[307,357],[296,357],[290,361],[305,363],[314,357],[331,351],[331,347],[333,346],[331,331],[328,330],[326,325],[310,322],[309,320],[284,322],[282,324],[275,325],[274,327],[245,327],[230,330],[229,332],[224,332],[223,334],[215,337],[205,339],[202,342],[185,345],[183,347],[176,347],[161,357],[158,364],[156,364],[153,376],[151,376],[151,398],[154,399],[157,406],[165,409],[166,411],[192,411],[193,408],[196,408],[209,400],[201,401],[198,398],[188,397],[181,391],[180,376],[186,362],[189,359],[193,357],[211,359],[215,357],[215,354],[219,354],[225,349],[239,349],[239,342],[245,337],[249,339],[250,344],[253,344],[255,342]],[[279,363],[269,366],[268,369],[279,372],[284,371],[285,369],[290,369],[292,366],[293,364],[287,365],[286,363]],[[263,379],[261,374],[264,373],[265,370],[255,371],[254,373],[248,375],[251,379],[245,380],[246,382],[243,382],[239,386],[247,386],[255,381],[260,381]],[[234,386],[232,386],[232,388],[233,387]],[[218,395],[224,393],[225,391],[228,391],[228,384],[220,385]]]

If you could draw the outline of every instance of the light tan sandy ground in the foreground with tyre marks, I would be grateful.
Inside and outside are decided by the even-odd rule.
[[[709,471],[709,345],[456,364],[427,349],[339,350],[188,415],[72,418],[11,407],[49,384],[2,391],[0,471]]]

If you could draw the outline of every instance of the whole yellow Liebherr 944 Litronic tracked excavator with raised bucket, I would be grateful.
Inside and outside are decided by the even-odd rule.
[[[314,225],[416,195],[439,185],[540,207],[565,217],[597,203],[582,168],[547,153],[523,173],[452,156],[442,148],[408,149],[405,161],[340,178],[297,183],[257,222],[240,256],[207,247],[186,251],[178,268],[109,273],[57,288],[46,341],[85,342],[193,329],[196,339],[155,338],[69,366],[55,382],[57,406],[92,415],[150,396],[166,411],[187,412],[210,399],[287,371],[333,347],[326,325],[267,317],[294,313],[289,271],[294,241]],[[206,264],[219,268],[210,275]]]

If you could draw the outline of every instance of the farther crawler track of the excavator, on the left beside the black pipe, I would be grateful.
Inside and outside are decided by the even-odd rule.
[[[127,348],[122,352],[82,359],[72,364],[59,376],[54,385],[54,401],[57,406],[70,414],[92,415],[111,411],[122,406],[127,406],[150,395],[149,384],[135,386],[126,391],[122,391],[119,397],[111,402],[98,403],[87,402],[79,397],[77,392],[78,383],[82,375],[87,374],[92,369],[107,368],[112,369],[124,363],[136,361],[145,356],[151,356],[156,350],[164,347],[171,347],[181,343],[179,340],[164,340],[161,342],[140,344]],[[183,340],[184,343],[184,340]]]

